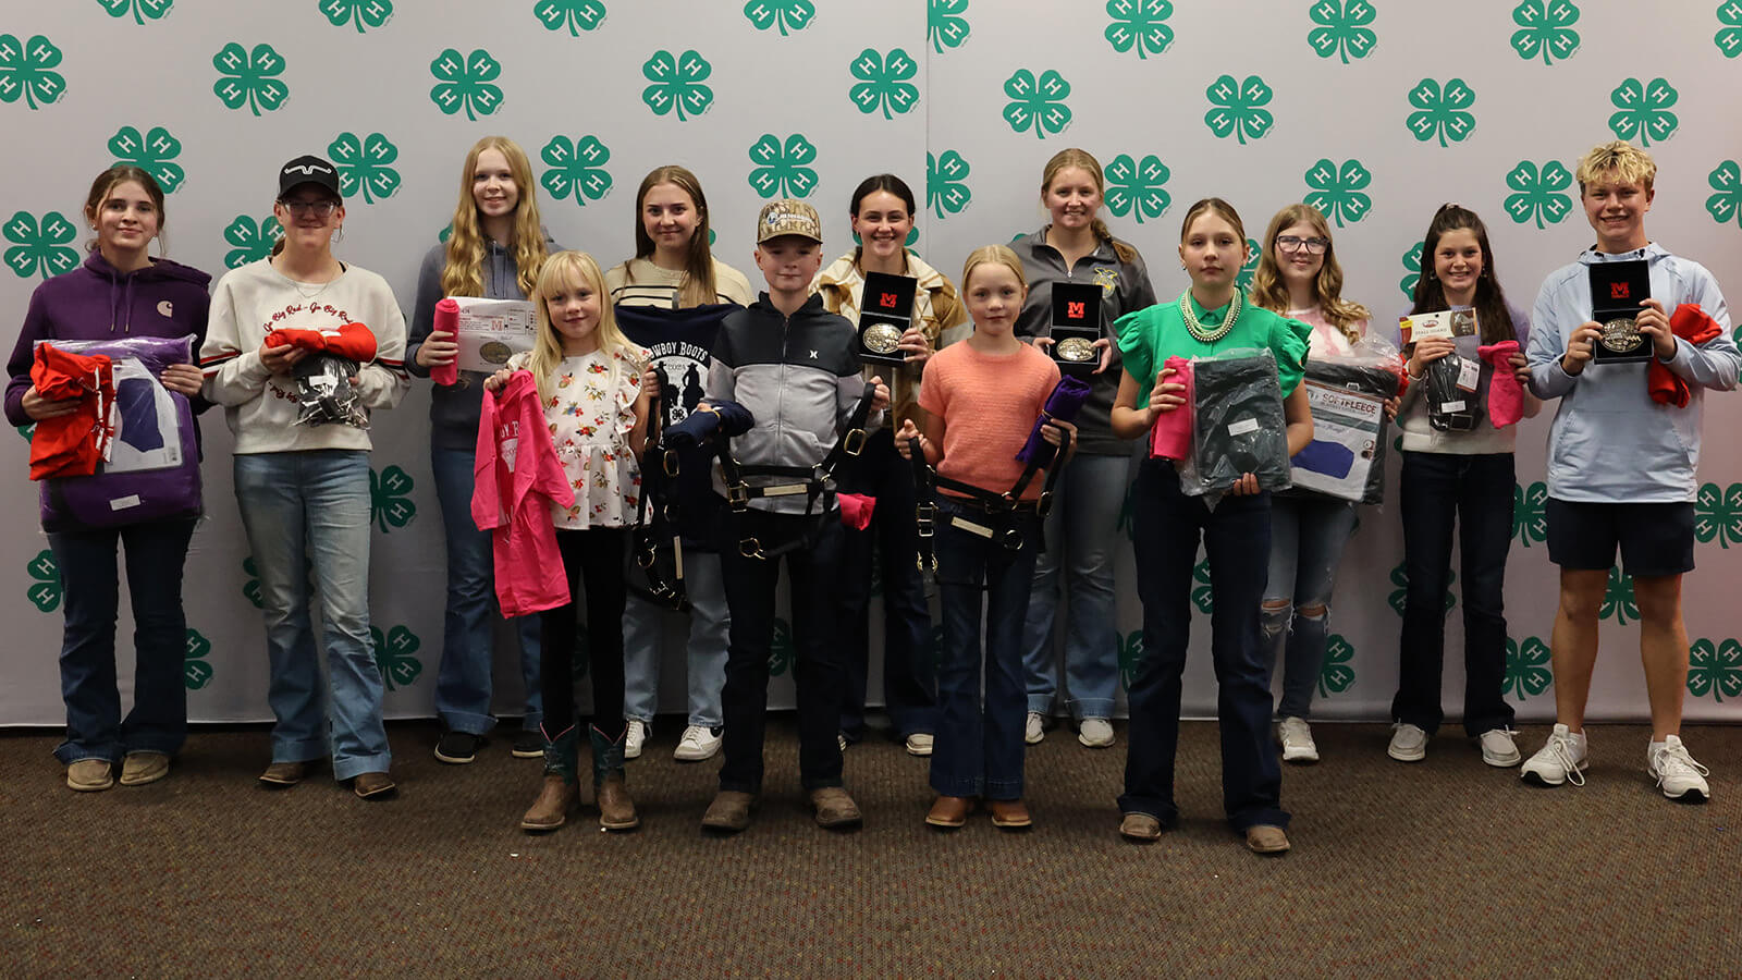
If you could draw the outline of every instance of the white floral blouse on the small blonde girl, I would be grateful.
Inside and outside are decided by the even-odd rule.
[[[639,347],[610,356],[594,350],[563,357],[549,378],[545,422],[568,485],[575,490],[573,507],[550,504],[550,520],[559,530],[629,527],[636,521],[641,467],[629,452],[629,431],[636,425],[632,410],[641,394],[641,370],[634,357],[643,364],[652,361],[652,354]],[[523,371],[526,361],[528,354],[516,354],[507,366]]]

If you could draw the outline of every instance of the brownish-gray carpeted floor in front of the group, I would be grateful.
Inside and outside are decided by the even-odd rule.
[[[1216,729],[1185,725],[1183,827],[1122,842],[1111,750],[1030,750],[1035,828],[922,818],[925,760],[848,750],[857,834],[810,823],[789,718],[768,793],[728,839],[697,820],[714,762],[631,764],[643,828],[596,811],[516,821],[538,764],[503,739],[434,760],[390,725],[401,797],[321,776],[263,792],[263,731],[197,731],[171,778],[73,793],[56,738],[0,734],[0,973],[7,977],[1735,977],[1742,971],[1742,727],[1686,732],[1716,802],[1664,800],[1646,731],[1594,727],[1583,788],[1533,790],[1446,729],[1427,762],[1388,729],[1315,727],[1284,772],[1294,851],[1258,858],[1219,820]],[[1529,729],[1526,752],[1543,738]]]

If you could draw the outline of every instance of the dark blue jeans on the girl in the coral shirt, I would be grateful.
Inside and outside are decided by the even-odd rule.
[[[944,649],[937,663],[937,743],[932,788],[946,797],[1023,799],[1023,616],[1040,549],[1040,520],[1017,513],[1023,549],[1010,551],[956,528],[960,514],[991,527],[984,513],[939,500],[937,589],[944,609]],[[986,645],[981,647],[981,616]],[[986,704],[981,708],[981,664]]]

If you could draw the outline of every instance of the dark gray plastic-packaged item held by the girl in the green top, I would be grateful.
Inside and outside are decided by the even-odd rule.
[[[1277,357],[1268,349],[1192,359],[1192,452],[1179,490],[1214,506],[1242,474],[1261,490],[1293,485]]]

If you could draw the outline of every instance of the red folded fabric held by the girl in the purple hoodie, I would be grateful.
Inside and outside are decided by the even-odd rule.
[[[68,354],[38,344],[30,366],[37,394],[51,401],[78,399],[78,408],[42,419],[30,436],[30,478],[91,476],[108,459],[115,434],[115,373],[103,354]]]

